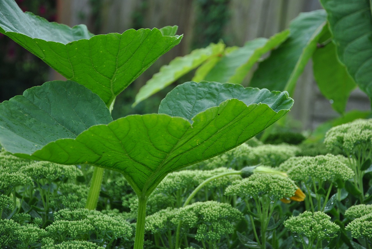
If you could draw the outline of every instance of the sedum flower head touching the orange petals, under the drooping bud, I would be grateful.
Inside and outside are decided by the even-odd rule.
[[[290,198],[295,195],[298,187],[289,178],[280,175],[255,173],[248,178],[235,181],[225,190],[226,195],[240,197],[260,197],[267,195],[271,200]]]

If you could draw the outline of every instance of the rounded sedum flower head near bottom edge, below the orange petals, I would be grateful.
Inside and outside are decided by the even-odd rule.
[[[324,248],[323,240],[329,242],[340,230],[337,224],[331,222],[330,216],[320,211],[305,211],[298,216],[292,216],[284,222],[284,226],[295,237],[299,237],[303,248]]]

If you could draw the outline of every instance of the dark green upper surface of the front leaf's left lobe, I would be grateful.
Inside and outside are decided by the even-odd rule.
[[[1,144],[32,153],[60,138],[75,138],[87,128],[112,121],[98,95],[73,81],[51,81],[0,104]]]

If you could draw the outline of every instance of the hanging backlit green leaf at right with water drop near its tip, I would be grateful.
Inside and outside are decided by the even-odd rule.
[[[328,25],[324,27],[324,34],[319,39],[320,46],[312,55],[314,77],[320,92],[333,101],[334,110],[343,114],[350,93],[356,84],[346,67],[337,58],[336,45],[330,42],[331,34]],[[322,43],[325,42],[323,45]]]

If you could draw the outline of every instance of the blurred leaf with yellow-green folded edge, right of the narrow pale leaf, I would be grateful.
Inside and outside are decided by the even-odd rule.
[[[266,38],[257,38],[230,53],[227,53],[205,76],[205,80],[222,83],[243,82],[254,63],[266,52],[272,50],[288,38],[289,31]]]

